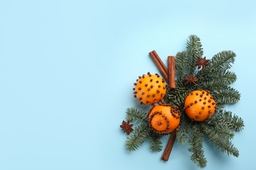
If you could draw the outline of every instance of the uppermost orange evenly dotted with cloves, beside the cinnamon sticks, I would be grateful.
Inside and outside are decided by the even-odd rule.
[[[134,97],[140,100],[140,104],[151,105],[158,103],[165,97],[167,85],[165,85],[165,80],[157,73],[156,75],[151,75],[148,72],[147,75],[139,76],[134,85]]]

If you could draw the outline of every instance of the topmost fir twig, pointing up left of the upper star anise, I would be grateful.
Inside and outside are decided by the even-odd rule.
[[[200,42],[200,38],[196,35],[190,35],[188,41],[186,42],[186,58],[184,63],[186,65],[189,75],[194,75],[196,71],[195,63],[197,57],[203,56],[203,48]]]

